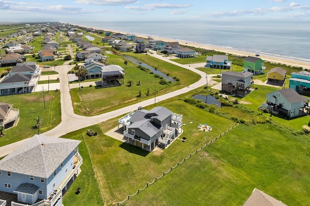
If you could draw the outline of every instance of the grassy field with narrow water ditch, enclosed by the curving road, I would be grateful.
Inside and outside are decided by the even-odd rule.
[[[142,57],[147,56],[143,55]],[[163,68],[162,70],[164,72],[170,73],[171,76],[180,78],[181,85],[179,85],[178,81],[167,85],[159,84],[160,79],[156,78],[153,74],[140,70],[136,65],[129,61],[125,66],[123,58],[109,54],[109,63],[121,65],[126,72],[124,77],[124,85],[120,87],[98,89],[84,88],[82,91],[79,91],[78,88],[71,89],[70,94],[73,100],[75,113],[84,116],[101,114],[112,108],[116,109],[121,106],[124,107],[125,105],[129,105],[133,102],[153,98],[155,88],[156,93],[161,94],[190,85],[200,78],[198,74],[194,74],[184,68],[171,65],[167,62],[162,62],[152,57],[143,60],[146,60],[148,63],[150,62],[151,65],[155,64],[155,61],[157,61],[158,65]],[[133,81],[134,85],[131,87],[126,87],[126,83],[128,81]],[[137,85],[137,82],[139,81],[140,86]],[[141,97],[139,98],[137,95],[140,91]]]

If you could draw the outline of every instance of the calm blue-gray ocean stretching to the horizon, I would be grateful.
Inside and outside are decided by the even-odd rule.
[[[85,21],[72,24],[310,63],[310,22]]]

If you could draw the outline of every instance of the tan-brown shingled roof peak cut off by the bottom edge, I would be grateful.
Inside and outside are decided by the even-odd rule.
[[[271,197],[270,195],[260,191],[258,189],[254,189],[252,194],[248,197],[247,201],[243,204],[243,206],[286,206],[279,200]]]

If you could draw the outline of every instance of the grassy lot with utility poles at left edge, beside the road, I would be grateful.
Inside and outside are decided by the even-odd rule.
[[[17,126],[5,130],[5,136],[0,138],[0,147],[28,138],[37,134],[37,130],[31,130],[36,124],[35,119],[40,116],[42,123],[40,132],[47,132],[61,122],[60,92],[46,92],[45,107],[41,92],[33,92],[20,95],[0,96],[0,102],[11,103],[19,109],[19,122]]]

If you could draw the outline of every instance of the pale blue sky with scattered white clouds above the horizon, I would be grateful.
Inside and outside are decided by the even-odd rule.
[[[0,0],[0,22],[310,21],[310,0]]]

